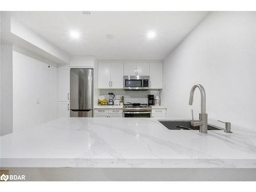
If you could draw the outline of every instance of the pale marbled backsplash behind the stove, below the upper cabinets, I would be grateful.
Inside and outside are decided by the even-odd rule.
[[[159,96],[159,91],[145,90],[145,91],[127,91],[127,90],[119,90],[119,89],[100,89],[99,95],[105,96],[105,98],[109,98],[108,93],[114,93],[114,99],[120,99],[122,96],[124,98],[124,103],[147,103],[147,95],[153,94]]]

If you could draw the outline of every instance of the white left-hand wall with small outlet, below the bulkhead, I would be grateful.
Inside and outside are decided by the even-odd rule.
[[[13,51],[14,133],[57,118],[57,68],[48,66]]]

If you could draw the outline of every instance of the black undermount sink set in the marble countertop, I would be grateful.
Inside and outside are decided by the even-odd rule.
[[[160,120],[168,130],[199,130],[199,126],[192,126],[190,121]],[[217,127],[207,125],[208,130],[221,130]]]

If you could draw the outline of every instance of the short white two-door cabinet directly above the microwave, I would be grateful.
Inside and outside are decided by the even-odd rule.
[[[150,75],[150,64],[148,63],[125,63],[124,75]]]

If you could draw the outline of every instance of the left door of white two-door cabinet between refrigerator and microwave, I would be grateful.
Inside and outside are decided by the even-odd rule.
[[[98,88],[111,88],[111,63],[99,63],[98,67]]]

